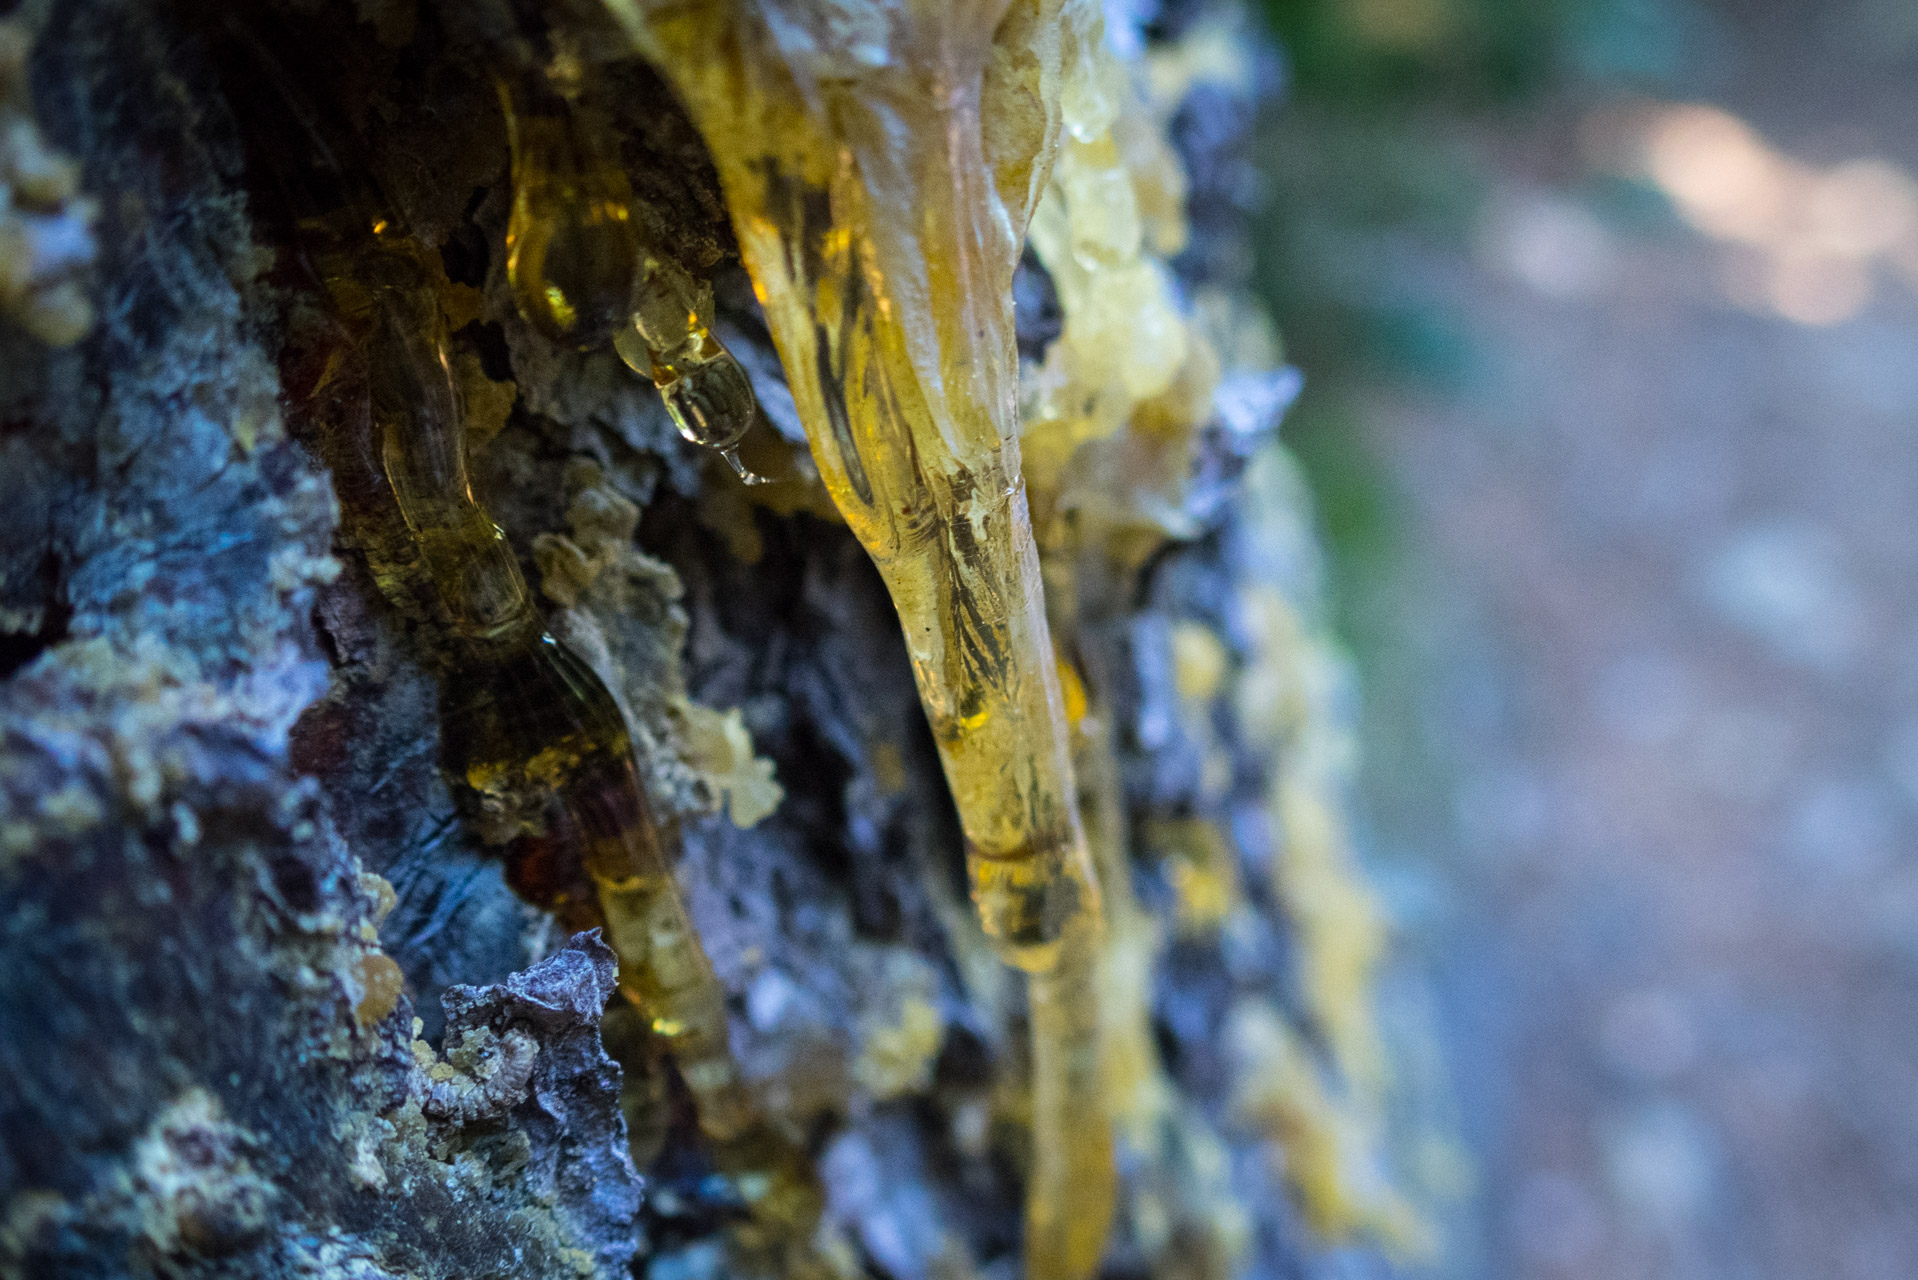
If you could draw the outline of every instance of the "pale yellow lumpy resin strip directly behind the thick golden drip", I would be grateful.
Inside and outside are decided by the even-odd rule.
[[[1099,13],[1063,67],[1059,159],[1032,221],[1064,332],[1043,365],[1024,370],[1022,445],[1055,633],[1074,645],[1080,626],[1109,618],[1137,564],[1168,535],[1162,516],[1181,510],[1189,438],[1212,416],[1201,344],[1172,305],[1168,273],[1147,251],[1183,232],[1178,201],[1141,219],[1141,190],[1176,188],[1180,173],[1158,132],[1132,119],[1132,157],[1114,136],[1139,102],[1103,40]],[[1130,111],[1128,111],[1130,109]],[[1157,182],[1147,182],[1153,177]],[[1201,357],[1201,361],[1195,361]],[[1197,365],[1197,368],[1195,368]],[[1189,386],[1180,386],[1181,382]],[[1139,447],[1139,445],[1145,447]],[[1099,457],[1105,453],[1105,457]],[[1089,478],[1088,478],[1089,476]],[[1137,495],[1164,495],[1157,507]],[[1155,518],[1160,516],[1160,518]],[[1093,641],[1084,647],[1099,654]],[[1101,1006],[1101,1082],[1124,1151],[1134,1242],[1155,1276],[1224,1280],[1247,1240],[1247,1215],[1226,1176],[1224,1144],[1166,1079],[1153,1034],[1151,973],[1162,950],[1158,921],[1132,892],[1134,837],[1112,748],[1109,672],[1086,679],[1064,668],[1080,714],[1074,766],[1107,910],[1105,946],[1089,961]]]

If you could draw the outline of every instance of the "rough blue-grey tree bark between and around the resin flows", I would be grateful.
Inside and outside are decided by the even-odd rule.
[[[750,507],[610,353],[516,319],[504,134],[474,50],[524,13],[272,19],[305,40],[305,73],[338,77],[353,163],[478,290],[456,334],[476,486],[554,631],[625,702],[735,1050],[809,1138],[829,1222],[901,1280],[1013,1267],[1022,998],[971,921],[890,604],[806,486],[696,136],[643,63],[614,69],[639,194],[715,274],[756,376],[758,464],[798,495],[783,509]],[[735,1201],[681,1086],[660,1063],[621,1115],[595,1034],[612,958],[522,904],[462,812],[432,628],[374,589],[288,403],[303,286],[219,10],[63,0],[23,21],[98,257],[79,345],[0,328],[0,1274],[712,1274]],[[1245,111],[1195,100],[1176,129],[1214,211],[1183,259],[1199,278],[1237,261],[1216,211]],[[1020,299],[1038,351],[1057,330],[1041,274]],[[1210,532],[1112,583],[1082,635],[1134,818],[1191,806],[1166,626],[1226,626],[1229,486],[1270,409],[1208,436]],[[784,787],[750,829],[721,812],[750,758],[729,773],[700,745],[704,708],[740,708]],[[1174,1080],[1218,1125],[1228,1004],[1291,983],[1270,850],[1243,858],[1251,925],[1176,944],[1157,977]],[[1164,908],[1155,875],[1139,865],[1141,894]],[[1247,1263],[1293,1274],[1304,1242],[1260,1142],[1233,1138],[1226,1171],[1252,1211]],[[1145,1268],[1139,1230],[1114,1268]]]

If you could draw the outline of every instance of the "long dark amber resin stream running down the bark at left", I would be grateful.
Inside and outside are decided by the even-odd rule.
[[[449,754],[483,806],[524,812],[518,887],[568,923],[604,925],[620,986],[673,1054],[700,1126],[737,1138],[754,1111],[725,992],[662,854],[625,718],[545,631],[512,549],[474,501],[437,271],[389,221],[374,226],[355,253],[322,261],[334,303],[364,334],[372,445],[458,651]]]

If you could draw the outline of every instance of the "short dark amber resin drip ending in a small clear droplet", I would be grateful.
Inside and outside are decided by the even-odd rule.
[[[577,63],[501,81],[512,146],[506,282],[527,324],[577,349],[608,342],[650,378],[679,434],[740,462],[758,418],[746,370],[712,332],[712,286],[652,244],[610,130],[581,98]]]

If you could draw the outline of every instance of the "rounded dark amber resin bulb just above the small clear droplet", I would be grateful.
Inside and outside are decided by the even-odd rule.
[[[639,274],[631,184],[589,109],[545,84],[503,83],[499,94],[512,144],[512,297],[552,342],[604,345],[627,320]]]

